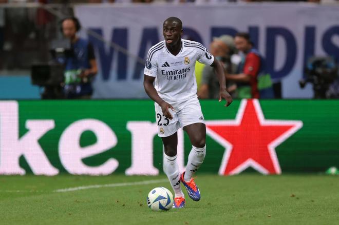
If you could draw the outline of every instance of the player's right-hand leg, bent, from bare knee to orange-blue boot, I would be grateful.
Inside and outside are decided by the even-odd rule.
[[[180,176],[180,180],[185,186],[189,196],[195,200],[200,200],[200,191],[194,182],[193,175],[200,168],[206,154],[206,126],[202,123],[187,125],[183,128],[189,135],[192,150],[187,161],[186,170]]]

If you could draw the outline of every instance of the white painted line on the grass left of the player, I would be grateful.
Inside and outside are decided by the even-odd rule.
[[[162,183],[168,181],[167,179],[161,180],[144,180],[144,181],[137,181],[137,182],[126,182],[126,183],[109,183],[107,185],[89,185],[89,186],[80,186],[75,188],[65,188],[65,189],[57,189],[53,192],[70,192],[70,191],[79,191],[85,189],[92,189],[92,188],[112,188],[112,187],[123,187],[123,186],[138,186],[138,185],[149,185],[151,183]]]

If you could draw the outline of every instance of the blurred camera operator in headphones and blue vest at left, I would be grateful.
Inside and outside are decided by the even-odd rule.
[[[98,67],[92,45],[77,36],[81,29],[76,17],[67,17],[61,21],[61,32],[71,42],[70,56],[59,58],[58,62],[65,65],[66,98],[89,99],[93,93],[92,78],[97,74]]]

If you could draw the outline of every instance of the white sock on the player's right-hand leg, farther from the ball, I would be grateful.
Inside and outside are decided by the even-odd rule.
[[[203,148],[197,148],[192,146],[192,150],[189,155],[189,161],[187,162],[186,171],[184,175],[185,181],[190,181],[192,176],[197,172],[201,166],[206,154],[206,145]]]

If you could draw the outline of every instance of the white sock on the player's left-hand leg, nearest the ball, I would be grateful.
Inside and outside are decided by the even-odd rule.
[[[163,170],[170,180],[172,185],[173,191],[175,193],[175,197],[184,197],[184,194],[181,191],[180,185],[180,173],[179,173],[179,166],[177,164],[177,156],[168,156],[164,154],[164,161],[163,161]]]

